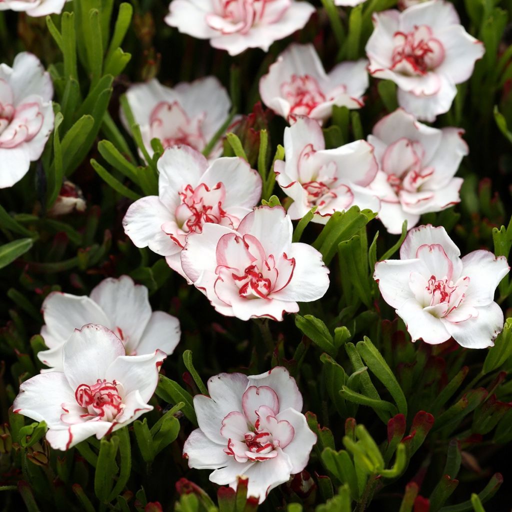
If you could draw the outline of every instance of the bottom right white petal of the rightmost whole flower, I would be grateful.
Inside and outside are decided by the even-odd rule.
[[[492,347],[496,336],[503,329],[503,311],[495,302],[477,308],[478,316],[464,322],[448,322],[444,327],[462,347],[484,349]]]

